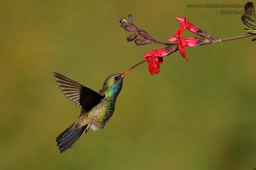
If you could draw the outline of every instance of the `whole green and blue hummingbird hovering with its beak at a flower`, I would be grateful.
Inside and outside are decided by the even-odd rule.
[[[107,121],[114,113],[117,96],[122,90],[124,76],[144,62],[145,60],[122,74],[109,75],[98,92],[60,73],[53,72],[59,89],[69,100],[80,107],[80,115],[76,121],[56,137],[60,153],[71,148],[78,138],[90,129],[96,131],[105,128]]]

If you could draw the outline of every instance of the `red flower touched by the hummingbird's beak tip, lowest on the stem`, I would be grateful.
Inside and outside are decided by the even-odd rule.
[[[144,54],[143,57],[145,58],[146,62],[149,63],[148,69],[151,75],[159,73],[159,64],[163,63],[162,57],[166,55],[168,55],[168,53],[166,53],[166,49],[156,49]]]

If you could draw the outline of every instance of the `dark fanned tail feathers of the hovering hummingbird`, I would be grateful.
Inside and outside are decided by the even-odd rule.
[[[83,134],[88,125],[83,126],[80,129],[72,129],[74,123],[69,126],[68,129],[64,130],[58,137],[56,137],[57,146],[59,147],[60,153],[65,152],[78,140],[78,138]]]

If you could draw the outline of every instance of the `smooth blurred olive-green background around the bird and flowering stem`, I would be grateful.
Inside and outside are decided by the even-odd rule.
[[[241,15],[186,4],[247,1],[0,2],[0,169],[252,170],[256,167],[255,42],[244,38],[187,48],[124,79],[106,128],[60,154],[55,137],[79,115],[52,72],[99,90],[161,45],[136,46],[120,17],[167,42],[188,17],[215,38],[242,35]],[[228,9],[233,10],[233,8]],[[243,10],[235,8],[234,10]],[[194,36],[188,32],[184,36]]]

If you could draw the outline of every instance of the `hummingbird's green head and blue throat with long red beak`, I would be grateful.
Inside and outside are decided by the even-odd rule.
[[[106,98],[113,98],[113,97],[117,97],[118,94],[120,93],[120,91],[122,90],[123,87],[123,78],[124,76],[130,72],[130,70],[134,69],[135,67],[139,66],[140,64],[144,63],[144,61],[136,64],[135,66],[129,68],[128,70],[126,70],[126,72],[122,73],[122,74],[111,74],[109,75],[104,84],[102,89],[105,89],[105,97]]]

